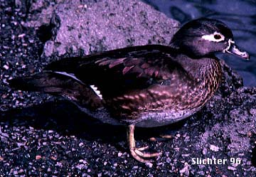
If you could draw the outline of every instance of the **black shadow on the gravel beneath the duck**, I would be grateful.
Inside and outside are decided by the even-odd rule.
[[[101,139],[115,145],[117,145],[117,142],[127,139],[125,126],[104,124],[87,116],[75,104],[67,100],[55,100],[22,109],[14,108],[6,112],[0,112],[0,114],[0,122],[15,127],[51,129],[63,135],[75,135],[87,141]],[[137,128],[135,139],[146,141],[151,137],[156,137],[158,141],[166,141],[159,135],[174,134],[185,123],[186,120],[164,127]]]

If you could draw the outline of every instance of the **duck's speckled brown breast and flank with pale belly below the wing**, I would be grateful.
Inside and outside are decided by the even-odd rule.
[[[198,70],[201,78],[196,81],[183,75],[178,75],[177,80],[174,74],[171,80],[159,85],[112,98],[118,102],[111,104],[114,117],[137,127],[159,127],[191,116],[213,97],[221,80],[218,60]]]

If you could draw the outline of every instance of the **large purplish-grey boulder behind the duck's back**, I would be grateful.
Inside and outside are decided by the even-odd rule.
[[[51,24],[54,36],[46,42],[46,56],[167,45],[179,23],[140,1],[67,1],[55,7]]]

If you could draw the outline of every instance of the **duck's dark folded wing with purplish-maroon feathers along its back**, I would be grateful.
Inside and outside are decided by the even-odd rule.
[[[58,60],[46,70],[74,75],[86,85],[97,87],[103,97],[112,97],[170,80],[174,73],[186,76],[181,65],[172,60],[172,51],[162,45],[137,46]]]

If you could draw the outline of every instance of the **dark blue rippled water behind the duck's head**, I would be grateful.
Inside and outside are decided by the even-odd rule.
[[[255,0],[145,0],[147,4],[181,24],[194,18],[215,18],[233,31],[241,49],[250,53],[250,61],[232,55],[218,55],[243,78],[245,86],[256,86],[256,1]]]

